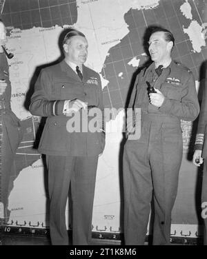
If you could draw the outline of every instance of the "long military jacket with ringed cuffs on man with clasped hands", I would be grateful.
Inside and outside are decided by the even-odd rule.
[[[33,115],[47,117],[39,142],[41,154],[97,156],[103,152],[105,136],[102,132],[84,132],[82,127],[79,132],[68,132],[70,117],[63,114],[63,105],[65,100],[74,99],[94,105],[103,112],[101,79],[97,72],[83,65],[81,81],[66,61],[41,70],[30,103]],[[103,127],[103,121],[99,127]]]

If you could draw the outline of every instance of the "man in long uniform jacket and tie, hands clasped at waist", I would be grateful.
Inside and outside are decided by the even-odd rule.
[[[63,50],[65,59],[61,63],[41,71],[30,112],[48,117],[39,152],[46,154],[49,172],[52,245],[68,245],[65,211],[70,186],[72,243],[89,245],[97,161],[105,145],[101,79],[97,72],[83,65],[88,56],[88,41],[84,34],[76,30],[68,32],[63,40]],[[99,114],[95,131],[81,127],[89,127],[92,112],[89,107],[94,107],[92,110]],[[85,117],[88,124],[81,120],[81,116],[87,114],[85,110],[89,111]],[[70,114],[77,118],[75,132],[72,132]]]

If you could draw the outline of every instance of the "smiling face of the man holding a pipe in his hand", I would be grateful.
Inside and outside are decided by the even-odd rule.
[[[161,63],[170,57],[172,41],[166,41],[164,32],[155,32],[150,36],[149,52],[152,61]]]

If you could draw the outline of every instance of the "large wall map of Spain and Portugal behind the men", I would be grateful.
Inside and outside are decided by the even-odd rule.
[[[1,0],[0,8],[1,19],[8,29],[6,47],[14,53],[9,60],[12,110],[24,128],[10,180],[8,225],[48,226],[46,172],[41,155],[34,148],[41,118],[28,112],[26,101],[37,67],[59,58],[59,35],[63,28],[72,27],[86,34],[89,43],[86,65],[101,76],[104,105],[116,109],[107,121],[106,149],[99,158],[92,230],[123,231],[119,160],[123,134],[117,129],[124,122],[123,108],[133,74],[148,60],[143,45],[146,27],[161,25],[172,31],[176,40],[172,56],[193,71],[201,99],[199,86],[204,85],[202,69],[207,59],[206,1]],[[182,128],[184,159],[172,211],[172,235],[190,232],[191,236],[197,236],[200,218],[195,194],[200,177],[190,161],[196,125],[183,121]]]

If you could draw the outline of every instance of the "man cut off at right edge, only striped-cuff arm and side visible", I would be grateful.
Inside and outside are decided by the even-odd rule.
[[[207,79],[207,76],[206,76]],[[204,94],[201,103],[201,112],[199,114],[199,123],[197,127],[197,134],[195,139],[195,152],[193,154],[193,163],[196,166],[200,166],[204,162],[203,168],[203,180],[201,190],[201,207],[202,218],[204,218],[205,234],[204,234],[204,245],[207,245],[207,141],[206,141],[206,130],[207,130],[207,84],[205,81]]]

